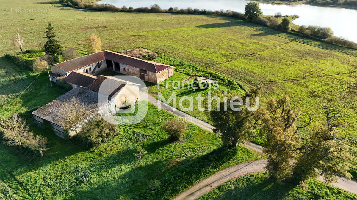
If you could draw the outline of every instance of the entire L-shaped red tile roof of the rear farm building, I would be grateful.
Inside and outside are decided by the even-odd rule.
[[[116,53],[112,51],[101,51],[97,53],[92,53],[87,56],[82,56],[72,60],[67,60],[65,62],[55,64],[60,69],[65,72],[71,72],[73,70],[95,64],[97,62],[103,61],[105,59],[112,60],[118,63],[130,65],[139,69],[144,69],[149,72],[158,73],[167,68],[174,68],[170,65],[157,63],[149,60],[143,60],[139,58],[134,58],[131,56],[126,56],[121,53]]]

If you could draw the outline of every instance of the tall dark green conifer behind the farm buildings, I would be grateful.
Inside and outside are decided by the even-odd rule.
[[[47,30],[45,32],[45,38],[47,38],[47,41],[44,45],[44,50],[45,53],[51,55],[51,56],[58,56],[62,54],[62,47],[59,41],[56,38],[56,34],[53,31],[54,27],[51,25],[51,23],[48,23]]]

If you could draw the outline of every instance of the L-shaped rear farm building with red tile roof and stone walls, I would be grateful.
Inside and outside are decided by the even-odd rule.
[[[139,77],[151,83],[160,83],[171,77],[174,75],[175,68],[107,50],[67,60],[50,67],[52,70],[51,80],[54,82],[72,72],[95,75],[105,70],[113,70],[121,74]]]

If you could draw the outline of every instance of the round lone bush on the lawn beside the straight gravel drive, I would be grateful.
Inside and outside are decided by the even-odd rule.
[[[170,120],[164,123],[162,130],[167,132],[167,135],[170,136],[170,139],[173,141],[181,140],[183,133],[187,130],[187,123],[180,122],[177,120]]]

